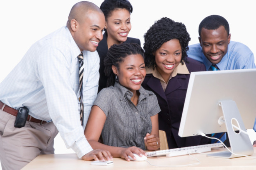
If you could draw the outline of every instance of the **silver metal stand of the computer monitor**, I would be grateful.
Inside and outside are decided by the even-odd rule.
[[[222,112],[225,118],[225,124],[227,127],[227,134],[229,138],[230,143],[230,150],[233,153],[239,154],[239,155],[246,155],[250,156],[254,153],[254,149],[252,147],[250,138],[247,134],[244,134],[242,132],[235,132],[232,127],[232,121],[236,121],[238,125],[240,126],[240,129],[244,130],[246,132],[242,117],[239,113],[239,110],[237,108],[236,102],[233,100],[222,100],[219,104],[222,108]],[[218,152],[218,153],[211,153],[207,156],[211,157],[218,157],[218,158],[236,158],[241,157],[239,155],[234,155],[233,153],[230,153],[229,151],[224,152]]]

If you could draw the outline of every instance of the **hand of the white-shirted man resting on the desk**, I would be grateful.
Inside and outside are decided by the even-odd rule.
[[[106,159],[105,159],[106,158]],[[113,157],[111,156],[111,153],[109,151],[105,151],[102,149],[95,149],[93,151],[90,151],[89,153],[85,154],[82,157],[83,160],[89,161],[89,160],[95,160],[95,161],[111,161],[113,160]]]

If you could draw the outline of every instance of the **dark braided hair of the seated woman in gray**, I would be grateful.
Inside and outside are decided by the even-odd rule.
[[[112,65],[119,70],[119,64],[128,55],[140,54],[144,58],[144,51],[137,43],[122,43],[114,44],[109,48],[109,51],[104,58],[104,73],[107,78],[107,87],[115,84],[115,74],[112,71]]]

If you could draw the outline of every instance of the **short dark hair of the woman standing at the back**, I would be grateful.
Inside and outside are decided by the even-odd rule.
[[[127,9],[130,14],[133,12],[133,6],[128,0],[104,0],[100,5],[100,9],[106,20],[116,9]]]

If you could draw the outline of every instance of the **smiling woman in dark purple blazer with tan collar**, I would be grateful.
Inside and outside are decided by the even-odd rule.
[[[166,132],[169,149],[208,144],[206,137],[178,135],[190,73],[205,71],[203,64],[187,58],[191,38],[185,25],[162,18],[144,38],[147,74],[142,86],[157,96],[161,108],[159,130]]]

